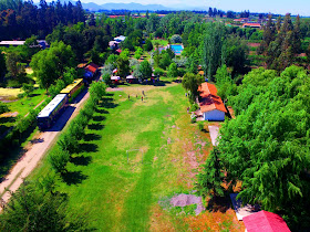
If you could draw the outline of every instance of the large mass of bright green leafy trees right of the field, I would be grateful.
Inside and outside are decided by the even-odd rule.
[[[236,119],[225,122],[198,176],[200,193],[219,197],[239,184],[245,203],[279,213],[292,231],[309,230],[309,83],[298,66],[245,75],[228,96]]]

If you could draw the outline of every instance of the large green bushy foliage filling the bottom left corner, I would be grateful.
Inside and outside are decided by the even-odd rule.
[[[94,231],[83,214],[72,214],[53,179],[23,182],[4,203],[0,231]]]

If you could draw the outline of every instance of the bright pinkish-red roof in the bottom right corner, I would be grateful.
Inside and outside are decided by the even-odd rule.
[[[244,218],[248,232],[290,232],[285,220],[265,210]]]

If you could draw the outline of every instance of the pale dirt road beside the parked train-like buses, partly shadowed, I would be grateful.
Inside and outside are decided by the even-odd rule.
[[[48,131],[40,133],[32,143],[27,146],[27,152],[20,158],[17,165],[11,169],[10,173],[0,183],[0,194],[4,201],[8,201],[11,197],[6,190],[18,190],[23,179],[31,173],[51,145],[55,141],[55,138],[61,133],[65,124],[78,115],[81,106],[89,97],[90,93],[87,89],[84,89],[76,97],[73,104],[71,104],[62,114],[52,128]]]

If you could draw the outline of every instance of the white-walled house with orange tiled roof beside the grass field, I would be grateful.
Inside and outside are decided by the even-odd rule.
[[[227,109],[219,96],[214,84],[203,83],[199,88],[199,106],[204,120],[225,120]]]

